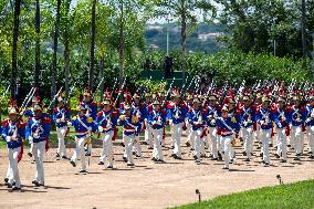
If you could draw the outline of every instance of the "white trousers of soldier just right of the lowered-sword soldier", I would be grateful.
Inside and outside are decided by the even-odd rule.
[[[109,130],[102,134],[103,138],[103,150],[101,153],[100,161],[107,159],[108,166],[113,166],[114,161],[114,150],[113,150],[113,135],[114,130]]]

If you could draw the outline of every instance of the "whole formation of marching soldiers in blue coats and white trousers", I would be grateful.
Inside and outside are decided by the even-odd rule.
[[[31,109],[20,109],[14,103],[9,106],[9,118],[2,123],[1,135],[8,144],[9,168],[4,179],[8,187],[14,190],[21,188],[18,161],[23,153],[22,139],[25,138],[31,148],[29,156],[34,157],[36,171],[32,181],[34,186],[44,186],[43,156],[49,148],[50,125],[56,124],[59,139],[57,158],[66,158],[64,138],[69,127],[75,129],[76,148],[70,161],[75,167],[81,159],[80,173],[86,173],[85,156],[92,151],[91,135],[100,133],[103,139],[103,150],[100,165],[107,160],[107,168],[113,168],[113,140],[117,134],[117,126],[123,127],[123,144],[125,146],[124,160],[127,166],[134,166],[133,153],[143,157],[139,134],[145,132],[145,143],[153,149],[151,160],[164,163],[163,145],[165,144],[165,126],[171,128],[171,156],[181,159],[181,135],[188,134],[187,145],[191,146],[193,158],[200,164],[209,148],[213,160],[224,161],[224,169],[229,169],[234,154],[234,140],[239,136],[243,139],[243,155],[249,161],[253,153],[254,138],[261,145],[263,164],[269,166],[269,147],[275,138],[276,156],[286,161],[286,147],[295,150],[296,160],[304,151],[304,136],[310,140],[310,153],[314,150],[314,97],[311,95],[306,105],[301,104],[297,95],[290,97],[279,95],[271,101],[270,95],[242,95],[236,104],[232,94],[221,97],[218,94],[199,96],[190,92],[182,98],[178,90],[167,100],[164,93],[145,94],[145,101],[138,93],[133,96],[129,92],[124,95],[119,108],[115,108],[111,93],[105,93],[105,100],[100,104],[93,101],[91,92],[82,95],[77,105],[77,114],[71,118],[71,111],[63,98],[57,98],[57,107],[50,116],[43,111],[38,97],[33,100]],[[29,116],[27,123],[22,115]],[[274,135],[275,137],[272,137]],[[255,136],[254,136],[255,135]],[[313,158],[313,154],[311,155]]]

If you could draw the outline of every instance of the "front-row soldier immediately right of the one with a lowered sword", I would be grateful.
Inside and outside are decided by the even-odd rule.
[[[118,112],[111,107],[111,100],[105,98],[101,104],[103,109],[97,114],[96,123],[103,127],[103,150],[101,153],[98,165],[104,165],[105,158],[108,161],[107,168],[113,168],[114,150],[113,150],[113,136],[117,125]]]

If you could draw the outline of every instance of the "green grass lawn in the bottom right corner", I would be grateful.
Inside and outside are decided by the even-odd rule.
[[[262,177],[257,177],[262,178]],[[196,196],[197,198],[197,196]],[[261,208],[261,209],[313,209],[314,180],[305,180],[275,187],[264,187],[249,191],[220,196],[201,203],[176,207],[176,209],[193,208]]]

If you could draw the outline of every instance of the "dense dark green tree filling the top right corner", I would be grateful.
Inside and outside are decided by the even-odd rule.
[[[310,55],[313,49],[313,1],[216,0],[222,4],[219,18],[226,28],[224,42],[242,52],[274,53],[278,56]],[[313,10],[313,9],[312,9]],[[302,25],[302,22],[304,24]],[[304,29],[304,33],[302,32]],[[303,38],[302,38],[303,36]],[[302,41],[303,40],[303,41]],[[302,45],[304,44],[304,48]]]

